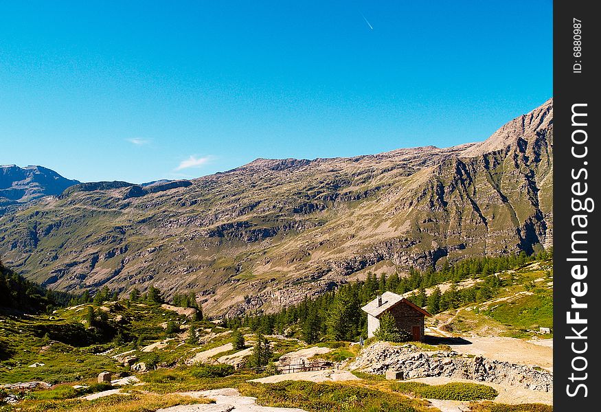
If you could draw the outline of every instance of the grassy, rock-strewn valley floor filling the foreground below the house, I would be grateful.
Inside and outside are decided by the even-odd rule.
[[[282,325],[282,330],[277,323],[269,330],[268,323],[250,317],[240,319],[242,324],[236,319],[208,321],[199,319],[194,308],[149,301],[148,296],[78,304],[51,314],[3,311],[0,393],[17,403],[1,408],[242,412],[262,411],[264,405],[282,412],[325,412],[343,402],[357,412],[551,411],[545,405],[552,402],[552,357],[548,345],[532,343],[552,339],[552,334],[541,333],[549,318],[544,310],[528,305],[528,299],[545,299],[552,293],[551,261],[520,265],[495,275],[501,284],[488,299],[435,314],[427,321],[425,343],[368,340],[361,347],[356,341],[332,341],[326,332],[317,343],[308,344],[302,340],[300,320]],[[490,276],[476,273],[471,283],[486,283]],[[466,284],[457,282],[462,283]],[[506,317],[512,311],[528,320]],[[82,328],[93,341],[84,343]],[[242,332],[241,345],[236,331]],[[269,358],[264,367],[251,369],[257,365],[256,347],[262,339],[269,343]],[[416,364],[414,358],[425,363]],[[478,378],[466,379],[460,365],[469,368],[474,362],[483,363],[484,369]],[[384,372],[398,368],[396,363],[407,365],[410,372],[405,380],[386,380]],[[286,365],[322,364],[315,371],[286,374]],[[457,369],[448,369],[453,365]],[[495,372],[498,368],[503,375]],[[96,377],[103,371],[110,372],[112,380],[100,385]],[[512,380],[514,373],[522,378]],[[43,383],[23,390],[10,385],[17,382]],[[463,382],[463,387],[453,387],[453,382]],[[315,393],[321,394],[320,402],[315,402]],[[512,409],[512,404],[520,409]],[[169,409],[176,405],[180,406]]]

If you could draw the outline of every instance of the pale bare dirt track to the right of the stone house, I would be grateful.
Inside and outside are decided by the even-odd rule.
[[[521,339],[502,336],[469,336],[466,345],[449,345],[460,354],[482,355],[522,365],[536,365],[547,370],[553,369],[553,348],[535,345]]]

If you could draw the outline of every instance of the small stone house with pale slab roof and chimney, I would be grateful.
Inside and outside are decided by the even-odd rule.
[[[367,337],[374,336],[380,327],[379,317],[384,312],[389,312],[394,317],[399,329],[406,330],[413,336],[413,341],[424,340],[424,319],[432,316],[425,309],[412,304],[401,295],[385,292],[361,308],[367,312]]]

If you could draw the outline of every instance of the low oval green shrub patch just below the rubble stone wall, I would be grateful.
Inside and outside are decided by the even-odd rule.
[[[477,383],[451,382],[445,385],[427,385],[422,382],[398,382],[392,390],[420,398],[441,400],[493,400],[499,392]]]

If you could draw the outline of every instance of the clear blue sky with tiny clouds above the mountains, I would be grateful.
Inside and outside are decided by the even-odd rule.
[[[551,95],[549,0],[0,1],[0,163],[81,181],[453,146]]]

